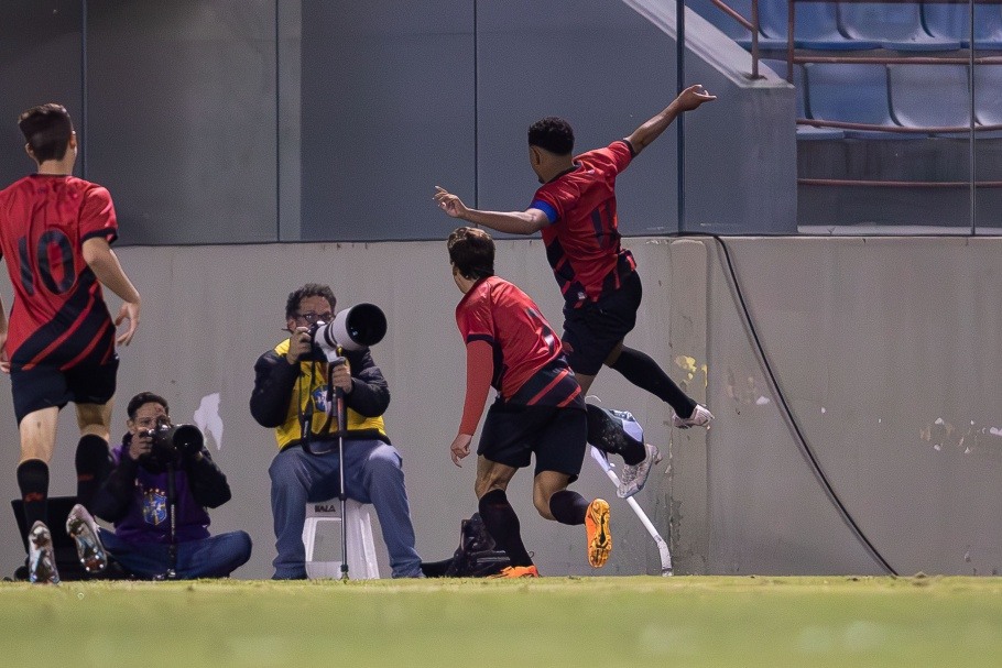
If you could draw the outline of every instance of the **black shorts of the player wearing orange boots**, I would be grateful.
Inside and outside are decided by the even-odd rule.
[[[534,475],[556,471],[574,482],[581,472],[587,440],[588,420],[580,407],[526,406],[498,399],[487,412],[477,455],[525,469],[535,453]]]

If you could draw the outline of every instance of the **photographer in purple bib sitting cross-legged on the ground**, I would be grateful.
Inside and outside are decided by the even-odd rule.
[[[94,549],[143,579],[229,576],[250,559],[251,539],[246,532],[209,535],[206,508],[231,493],[202,432],[172,425],[166,399],[150,392],[132,397],[128,413],[129,432],[94,500],[95,514],[115,532],[95,529]]]

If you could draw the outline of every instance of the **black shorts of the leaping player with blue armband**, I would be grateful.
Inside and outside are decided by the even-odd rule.
[[[643,296],[640,275],[631,272],[620,288],[579,308],[564,308],[564,352],[575,373],[595,375],[612,349],[636,325]]]

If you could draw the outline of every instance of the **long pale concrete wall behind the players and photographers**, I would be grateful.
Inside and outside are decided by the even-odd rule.
[[[440,221],[436,234],[445,236]],[[836,494],[898,572],[993,573],[1002,566],[1002,315],[994,265],[1002,240],[729,238],[758,335],[792,415]],[[671,429],[671,413],[614,372],[593,390],[632,410],[666,455],[639,501],[669,538],[677,573],[881,573],[821,489],[780,409],[743,322],[720,244],[635,238],[645,298],[630,344],[660,360],[717,415],[709,432]],[[216,412],[209,447],[233,500],[214,532],[254,540],[240,578],[268,578],[274,557],[266,469],[275,446],[248,412],[257,357],[281,337],[287,293],[329,282],[341,307],[380,305],[390,321],[373,349],[393,401],[425,560],[444,559],[476,504],[472,462],[448,460],[464,395],[455,330],[459,298],[445,244],[388,242],[122,248],[144,297],[134,343],[121,351],[115,434],[137,392],[165,395],[176,419]],[[498,244],[498,272],[560,322],[535,240]],[[7,282],[0,282],[10,304]],[[112,303],[113,306],[117,304]],[[10,384],[0,383],[0,497],[18,496]],[[73,494],[73,412],[61,417],[52,494]],[[582,530],[540,518],[530,477],[511,499],[544,574],[586,574]],[[590,459],[575,489],[612,497],[614,550],[603,574],[658,572],[653,543]],[[61,518],[53,518],[59,524]],[[22,562],[13,514],[0,513],[0,571]],[[377,532],[378,533],[378,532]],[[381,540],[382,572],[389,572]]]

